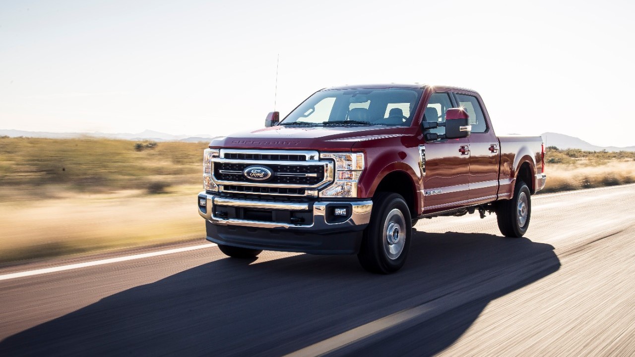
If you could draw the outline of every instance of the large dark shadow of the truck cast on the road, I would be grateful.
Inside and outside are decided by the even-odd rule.
[[[8,337],[0,355],[276,356],[422,304],[430,308],[407,328],[335,354],[432,355],[492,299],[557,271],[553,249],[526,238],[417,232],[406,266],[386,276],[365,273],[354,256],[220,259]]]

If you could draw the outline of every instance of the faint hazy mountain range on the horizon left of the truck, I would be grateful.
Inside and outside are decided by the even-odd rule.
[[[50,133],[46,131],[23,131],[13,129],[0,129],[0,136],[25,136],[29,138],[51,138],[51,139],[70,139],[81,138],[83,136],[91,136],[93,138],[109,138],[123,140],[153,140],[153,141],[211,141],[213,136],[208,134],[197,134],[194,136],[172,135],[161,133],[160,131],[144,130],[141,133]]]

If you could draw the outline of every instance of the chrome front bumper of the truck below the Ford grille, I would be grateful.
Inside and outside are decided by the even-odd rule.
[[[202,191],[198,195],[199,198],[199,214],[212,224],[218,226],[241,226],[251,228],[265,228],[268,230],[290,230],[290,231],[307,231],[318,233],[320,231],[357,231],[363,230],[370,222],[370,214],[373,208],[371,200],[363,201],[318,201],[307,203],[284,203],[274,201],[260,200],[242,200],[236,198],[218,197],[213,194]],[[201,206],[200,200],[205,200],[205,206]],[[280,210],[280,211],[312,211],[312,222],[303,224],[292,224],[284,222],[266,222],[252,221],[247,219],[225,219],[214,216],[215,206],[224,207],[241,207],[244,209],[257,210]],[[327,210],[330,205],[351,207],[351,216],[345,221],[331,223],[327,220]]]

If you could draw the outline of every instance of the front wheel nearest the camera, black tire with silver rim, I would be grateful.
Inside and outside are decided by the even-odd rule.
[[[373,198],[370,223],[364,230],[359,264],[371,273],[394,273],[406,263],[411,238],[406,201],[397,193],[379,192]]]

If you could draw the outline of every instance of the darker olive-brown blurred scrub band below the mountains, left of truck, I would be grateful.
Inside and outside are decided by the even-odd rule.
[[[0,185],[17,191],[43,186],[75,191],[156,191],[159,184],[194,185],[201,182],[206,147],[206,143],[96,138],[0,138]],[[3,198],[8,197],[0,195]]]

